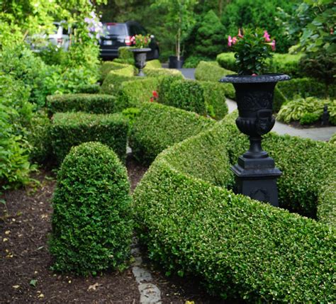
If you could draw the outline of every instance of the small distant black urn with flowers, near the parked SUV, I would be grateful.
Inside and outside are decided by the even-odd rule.
[[[148,35],[135,35],[130,38],[130,42],[135,48],[130,49],[130,52],[134,54],[135,67],[138,67],[139,72],[137,76],[144,77],[145,74],[142,69],[146,66],[147,52],[150,52],[150,34]]]

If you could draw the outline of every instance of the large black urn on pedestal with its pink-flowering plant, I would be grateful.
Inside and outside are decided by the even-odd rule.
[[[281,171],[274,167],[274,159],[262,150],[262,135],[269,133],[275,119],[272,116],[274,88],[277,81],[288,80],[285,74],[263,74],[265,62],[275,50],[275,40],[267,30],[238,31],[237,37],[228,36],[228,46],[235,50],[237,75],[220,79],[235,87],[239,130],[249,135],[250,150],[232,167],[236,176],[236,191],[259,201],[278,204],[276,179]]]

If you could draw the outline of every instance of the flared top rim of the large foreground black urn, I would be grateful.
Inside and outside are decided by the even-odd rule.
[[[227,75],[220,79],[220,82],[230,82],[233,84],[253,84],[264,82],[277,82],[289,80],[291,77],[286,74],[262,74],[262,75]]]

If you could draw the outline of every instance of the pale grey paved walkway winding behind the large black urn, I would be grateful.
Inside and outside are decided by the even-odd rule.
[[[188,79],[195,79],[195,69],[179,69],[179,71],[181,71],[184,77]],[[226,103],[228,103],[229,113],[237,109],[237,103],[235,103],[235,101],[227,98]],[[330,140],[330,137],[336,133],[336,127],[298,129],[276,121],[272,131],[281,135],[289,134],[292,136],[310,138],[312,140],[325,141]]]

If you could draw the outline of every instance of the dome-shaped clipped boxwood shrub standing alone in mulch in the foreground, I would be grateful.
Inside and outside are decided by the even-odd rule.
[[[99,142],[73,147],[57,174],[52,199],[52,269],[96,275],[130,255],[133,223],[126,169]]]

